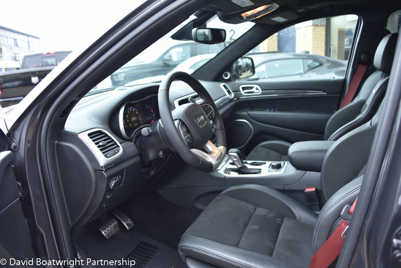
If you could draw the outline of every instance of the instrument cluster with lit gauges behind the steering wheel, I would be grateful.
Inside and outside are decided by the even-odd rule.
[[[129,140],[142,126],[150,126],[160,119],[157,95],[145,99],[128,101],[119,113],[120,131]]]

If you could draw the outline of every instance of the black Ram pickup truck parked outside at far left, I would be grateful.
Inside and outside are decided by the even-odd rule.
[[[25,55],[21,69],[0,73],[0,106],[19,103],[71,51]]]

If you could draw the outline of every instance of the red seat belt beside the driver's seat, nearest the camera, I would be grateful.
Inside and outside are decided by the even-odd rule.
[[[358,200],[358,197],[356,197],[348,212],[351,215],[354,213],[356,200]],[[326,240],[323,246],[313,255],[312,260],[310,260],[309,268],[327,268],[340,256],[342,244],[344,244],[344,235],[348,229],[348,225],[349,223],[345,219],[340,222],[328,240]]]

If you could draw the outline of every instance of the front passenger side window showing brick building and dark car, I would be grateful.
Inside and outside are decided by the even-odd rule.
[[[298,23],[270,36],[247,56],[253,58],[260,79],[299,79],[294,75],[302,73],[305,79],[311,75],[344,76],[357,22],[358,16],[351,14]],[[294,57],[298,60],[288,59]]]

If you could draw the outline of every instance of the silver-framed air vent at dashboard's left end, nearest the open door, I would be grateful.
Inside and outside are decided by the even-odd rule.
[[[121,144],[101,128],[81,132],[78,136],[99,160],[100,166],[119,158],[123,153]]]

